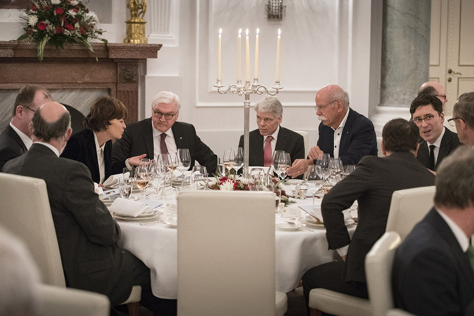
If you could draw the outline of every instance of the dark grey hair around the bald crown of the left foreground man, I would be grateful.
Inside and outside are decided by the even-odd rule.
[[[45,142],[63,137],[71,127],[69,111],[65,111],[55,122],[46,122],[41,116],[41,108],[39,108],[35,111],[35,114],[33,114],[31,121],[33,122],[33,135]]]

